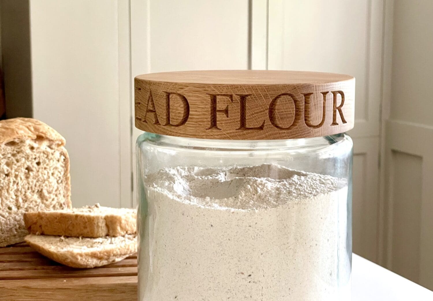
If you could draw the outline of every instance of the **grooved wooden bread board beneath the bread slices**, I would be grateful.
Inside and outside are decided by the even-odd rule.
[[[0,248],[1,301],[136,301],[137,256],[94,269],[54,262],[26,243]]]

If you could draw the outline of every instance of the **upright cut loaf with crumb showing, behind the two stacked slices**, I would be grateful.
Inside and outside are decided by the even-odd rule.
[[[32,118],[0,121],[0,247],[23,241],[26,211],[71,208],[65,139]]]

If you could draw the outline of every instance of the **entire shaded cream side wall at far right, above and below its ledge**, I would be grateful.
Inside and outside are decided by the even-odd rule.
[[[383,257],[389,269],[433,289],[433,2],[386,5]]]

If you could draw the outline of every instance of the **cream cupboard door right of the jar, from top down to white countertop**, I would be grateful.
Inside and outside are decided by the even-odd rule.
[[[355,76],[353,251],[378,262],[383,2],[269,1],[268,68]]]

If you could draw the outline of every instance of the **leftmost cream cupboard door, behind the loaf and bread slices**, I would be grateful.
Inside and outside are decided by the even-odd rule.
[[[33,117],[65,136],[74,206],[120,206],[118,3],[30,1]],[[129,179],[126,179],[129,180]]]

